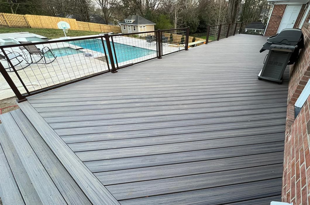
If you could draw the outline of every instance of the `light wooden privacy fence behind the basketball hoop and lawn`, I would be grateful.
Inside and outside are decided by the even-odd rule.
[[[37,28],[37,29],[58,29],[57,23],[66,21],[70,24],[72,30],[98,31],[121,33],[121,27],[113,25],[96,24],[89,22],[77,21],[70,18],[61,18],[55,16],[38,16],[38,15],[19,15],[0,13],[0,25],[10,27]]]

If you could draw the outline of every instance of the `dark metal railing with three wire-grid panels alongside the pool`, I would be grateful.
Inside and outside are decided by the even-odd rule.
[[[189,28],[20,41],[0,46],[0,72],[18,101],[70,83],[188,50]]]

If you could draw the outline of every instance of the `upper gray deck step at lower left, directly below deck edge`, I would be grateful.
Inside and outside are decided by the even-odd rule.
[[[19,204],[91,204],[21,110],[0,118],[0,143],[19,189],[11,193],[21,193]]]

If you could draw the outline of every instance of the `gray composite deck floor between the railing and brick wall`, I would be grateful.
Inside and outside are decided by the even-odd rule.
[[[239,34],[23,103],[122,205],[267,205],[281,201],[288,72],[257,79],[265,41]]]

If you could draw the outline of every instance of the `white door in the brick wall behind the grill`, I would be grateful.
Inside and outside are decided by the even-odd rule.
[[[293,28],[302,5],[287,5],[282,17],[278,33],[283,29]]]

